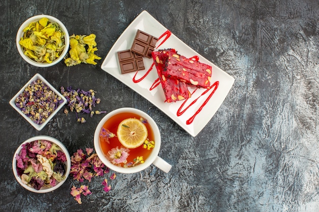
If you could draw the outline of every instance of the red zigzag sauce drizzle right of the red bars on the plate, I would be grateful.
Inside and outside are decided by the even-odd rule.
[[[210,95],[207,97],[207,99],[204,101],[204,103],[198,108],[198,110],[195,112],[195,114],[194,114],[192,117],[190,117],[190,118],[186,121],[186,124],[187,124],[187,125],[192,124],[194,118],[196,117],[196,115],[203,109],[203,107],[207,104],[207,102],[208,102],[209,99],[212,97],[212,95],[216,92],[216,90],[217,90],[217,88],[218,88],[218,85],[219,85],[219,81],[216,81],[214,84],[212,84],[212,85],[210,86],[210,88],[206,89],[197,99],[193,100],[193,102],[191,102],[191,104],[190,104],[189,106],[187,106],[185,109],[182,110],[182,107],[184,107],[184,105],[186,104],[186,102],[187,102],[188,99],[185,100],[185,101],[183,102],[183,104],[178,108],[176,115],[177,115],[177,116],[182,115],[187,109],[189,109],[193,104],[195,104],[195,102],[197,102],[197,100],[198,100],[201,96],[205,95],[209,90],[212,89],[212,92],[211,92]],[[214,88],[214,89],[213,89],[213,88]],[[195,93],[196,90],[197,90],[197,88],[194,90],[193,94]],[[192,94],[192,95],[193,95],[193,94]]]

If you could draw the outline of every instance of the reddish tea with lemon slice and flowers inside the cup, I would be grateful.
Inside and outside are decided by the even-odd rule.
[[[103,154],[114,165],[121,167],[144,163],[155,142],[147,119],[131,112],[118,113],[110,117],[99,134]]]

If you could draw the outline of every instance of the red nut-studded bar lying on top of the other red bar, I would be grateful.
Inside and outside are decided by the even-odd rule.
[[[211,66],[189,59],[176,52],[168,51],[162,74],[166,77],[208,88],[210,86]]]

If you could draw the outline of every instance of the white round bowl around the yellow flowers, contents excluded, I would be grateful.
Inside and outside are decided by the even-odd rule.
[[[65,40],[64,50],[61,53],[61,55],[56,60],[54,60],[54,62],[52,62],[52,63],[37,63],[37,62],[35,62],[30,57],[28,57],[28,56],[26,56],[24,54],[24,51],[23,51],[21,45],[19,44],[19,41],[23,37],[23,34],[24,34],[23,29],[26,26],[29,26],[30,23],[36,22],[36,21],[38,21],[38,20],[40,20],[41,18],[44,18],[44,17],[48,18],[50,22],[58,23],[59,26],[62,28],[62,31],[64,32],[64,36],[65,36],[65,38],[64,38],[64,40]],[[69,33],[67,31],[67,28],[65,27],[65,25],[59,19],[57,19],[55,17],[52,17],[52,16],[49,16],[49,15],[36,15],[36,16],[33,16],[33,17],[27,19],[26,21],[24,21],[22,23],[22,25],[20,26],[20,28],[18,29],[18,32],[17,32],[16,45],[17,45],[17,49],[18,49],[18,52],[21,55],[21,57],[26,62],[28,62],[29,64],[31,64],[33,66],[36,66],[36,67],[49,67],[49,66],[54,66],[54,65],[58,64],[65,57],[65,55],[68,53],[69,45],[70,45],[70,38],[69,38]]]

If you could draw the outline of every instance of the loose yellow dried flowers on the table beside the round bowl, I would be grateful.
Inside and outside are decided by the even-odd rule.
[[[93,64],[97,63],[95,59],[101,59],[94,52],[97,51],[96,36],[91,34],[89,36],[85,35],[72,35],[70,36],[70,57],[64,58],[64,63],[66,66],[75,66],[81,63]]]

